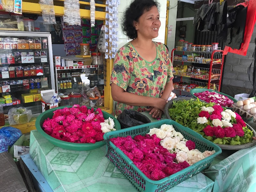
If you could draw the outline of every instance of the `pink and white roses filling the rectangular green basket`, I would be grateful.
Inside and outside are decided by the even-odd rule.
[[[172,125],[153,128],[146,136],[137,135],[110,139],[151,180],[161,180],[212,155],[195,149]]]

